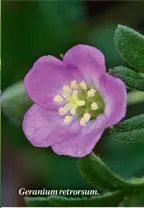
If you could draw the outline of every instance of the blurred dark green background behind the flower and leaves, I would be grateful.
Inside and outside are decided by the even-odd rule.
[[[24,137],[23,115],[31,105],[21,81],[37,58],[60,58],[83,43],[104,52],[107,69],[127,65],[114,46],[118,24],[144,32],[143,1],[2,1],[2,206],[24,206],[21,187],[90,189],[76,159],[33,147]],[[144,113],[128,106],[127,117]],[[144,144],[101,141],[95,151],[125,178],[144,175]]]

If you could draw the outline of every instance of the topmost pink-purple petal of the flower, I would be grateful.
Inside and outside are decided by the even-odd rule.
[[[74,46],[65,54],[63,61],[78,67],[87,81],[91,76],[95,75],[95,78],[98,78],[106,72],[104,55],[92,46]]]

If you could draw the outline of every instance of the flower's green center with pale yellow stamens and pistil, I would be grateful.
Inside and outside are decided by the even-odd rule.
[[[102,96],[98,90],[90,88],[84,81],[78,84],[73,80],[70,85],[64,85],[62,95],[56,95],[53,101],[63,104],[63,107],[59,108],[59,114],[65,116],[65,124],[78,117],[80,125],[85,126],[87,122],[104,113],[105,104]]]

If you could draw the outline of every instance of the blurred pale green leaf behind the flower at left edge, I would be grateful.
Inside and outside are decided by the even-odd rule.
[[[27,96],[23,82],[18,82],[6,90],[1,95],[2,112],[14,124],[21,125],[23,116],[32,105],[32,101]]]

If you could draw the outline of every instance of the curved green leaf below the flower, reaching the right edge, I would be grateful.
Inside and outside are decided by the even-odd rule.
[[[89,169],[89,172],[88,171],[85,172],[86,167],[89,168],[90,166],[91,169]],[[107,167],[107,165],[94,153],[78,160],[78,167],[80,173],[85,175],[85,179],[87,181],[91,183],[94,182],[95,187],[97,187],[96,182],[99,179],[109,183],[109,185],[115,187],[115,189],[135,188],[135,187],[144,186],[144,178],[131,179],[129,181],[126,181],[120,176],[116,175],[112,170],[110,170]],[[89,175],[90,176],[92,175],[93,177],[90,177]],[[95,175],[96,176],[98,175],[99,177],[94,177]],[[105,188],[111,188],[106,185],[107,184],[105,184]]]

